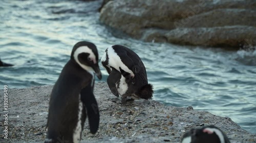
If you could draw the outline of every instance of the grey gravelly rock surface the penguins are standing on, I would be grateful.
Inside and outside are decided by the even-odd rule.
[[[9,90],[8,139],[0,135],[0,142],[43,142],[49,97],[52,85]],[[154,100],[137,100],[120,104],[105,82],[95,85],[95,97],[100,108],[100,126],[91,134],[88,122],[84,125],[82,143],[86,142],[180,142],[190,128],[204,125],[220,127],[231,142],[253,143],[256,134],[240,128],[228,117],[207,111],[165,106]],[[1,90],[3,95],[3,90]],[[1,104],[3,105],[1,100]],[[1,112],[1,131],[4,123]]]

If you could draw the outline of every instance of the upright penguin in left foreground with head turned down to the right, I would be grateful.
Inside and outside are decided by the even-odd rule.
[[[87,116],[91,133],[97,132],[99,110],[93,94],[94,73],[101,79],[96,46],[86,41],[76,43],[51,93],[45,143],[80,142]]]

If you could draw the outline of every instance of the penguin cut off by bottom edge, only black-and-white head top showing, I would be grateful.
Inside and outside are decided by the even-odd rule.
[[[227,136],[216,126],[210,125],[186,132],[181,143],[230,143]]]

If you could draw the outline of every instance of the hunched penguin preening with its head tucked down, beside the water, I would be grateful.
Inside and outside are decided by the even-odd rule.
[[[109,73],[107,82],[111,92],[121,96],[121,103],[126,102],[126,97],[152,98],[153,85],[148,83],[145,66],[133,50],[113,45],[105,50],[101,64]]]

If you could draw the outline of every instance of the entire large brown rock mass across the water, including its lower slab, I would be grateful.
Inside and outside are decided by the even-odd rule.
[[[144,41],[238,47],[256,38],[256,1],[119,0],[100,20]]]

